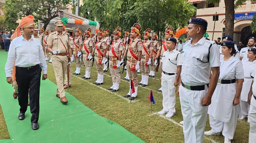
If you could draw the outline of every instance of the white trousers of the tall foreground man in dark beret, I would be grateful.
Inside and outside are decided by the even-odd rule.
[[[201,106],[201,101],[207,90],[207,85],[201,91],[187,90],[182,85],[179,87],[185,143],[204,143],[208,106]]]

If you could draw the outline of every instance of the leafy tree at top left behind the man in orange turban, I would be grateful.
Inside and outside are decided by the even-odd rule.
[[[44,22],[46,29],[49,22],[57,17],[58,9],[64,9],[67,5],[74,5],[73,0],[6,0],[5,15],[6,24],[10,28],[16,28],[18,19],[32,14],[35,21]],[[22,7],[21,7],[22,6]]]

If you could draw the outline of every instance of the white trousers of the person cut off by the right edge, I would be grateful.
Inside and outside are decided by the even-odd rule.
[[[249,110],[249,117],[250,117],[250,132],[249,132],[249,143],[255,143],[256,140],[256,100],[252,96],[250,110]]]

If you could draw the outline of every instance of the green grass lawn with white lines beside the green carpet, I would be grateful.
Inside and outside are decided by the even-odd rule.
[[[48,65],[48,79],[56,84],[52,64]],[[76,70],[75,63],[72,63],[71,71]],[[107,90],[112,86],[112,78],[110,72],[104,74],[104,84],[96,86],[92,84],[96,81],[97,72],[95,64],[91,72],[91,79],[81,79],[84,76],[85,68],[81,67],[81,75],[71,77],[71,87],[69,93],[75,96],[85,106],[89,107],[97,114],[104,118],[110,119],[119,123],[125,129],[140,137],[146,143],[184,143],[183,128],[178,125],[182,121],[179,98],[176,98],[176,114],[170,119],[156,114],[162,107],[162,93],[157,92],[160,88],[160,73],[156,72],[155,79],[149,78],[148,86],[138,87],[137,98],[130,103],[127,98],[122,98],[129,90],[129,82],[122,80],[119,90],[115,93]],[[124,78],[126,71],[121,74]],[[138,75],[140,82],[141,75]],[[44,84],[41,82],[41,84]],[[56,87],[57,88],[57,87]],[[150,89],[153,91],[156,104],[152,105],[153,114],[151,114],[151,104],[148,100]],[[67,91],[67,89],[65,90]],[[52,95],[55,96],[55,95]],[[0,109],[0,139],[9,138],[6,124],[3,118],[2,110]],[[41,115],[42,116],[42,115]],[[247,143],[249,134],[249,124],[246,120],[238,121],[236,132],[232,143]],[[209,121],[207,121],[206,131],[210,130]],[[224,137],[207,136],[204,139],[205,143],[213,143],[213,141],[222,143]]]

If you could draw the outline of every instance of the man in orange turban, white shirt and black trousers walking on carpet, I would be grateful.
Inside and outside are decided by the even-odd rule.
[[[19,120],[24,120],[28,106],[28,94],[30,95],[30,112],[32,113],[32,129],[39,128],[39,94],[41,71],[43,80],[47,79],[47,64],[44,60],[44,51],[41,42],[32,37],[35,24],[34,17],[29,15],[21,19],[20,25],[16,28],[15,37],[10,45],[8,58],[5,66],[6,81],[13,83],[13,78],[18,84],[18,101],[20,105]],[[23,35],[21,35],[22,28]],[[18,36],[16,38],[16,36]],[[30,53],[27,56],[27,53]],[[13,65],[16,67],[13,68]],[[16,74],[15,74],[16,73]],[[14,74],[14,76],[13,76]]]

